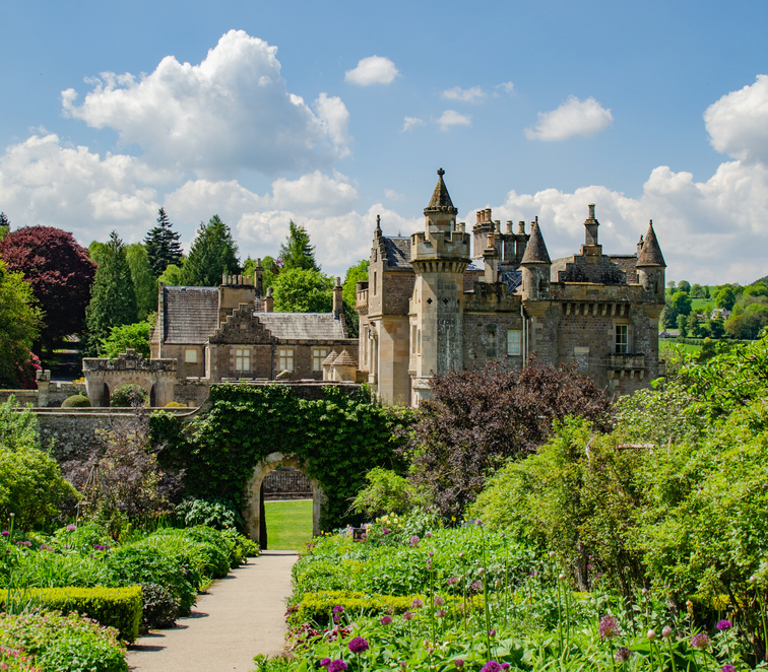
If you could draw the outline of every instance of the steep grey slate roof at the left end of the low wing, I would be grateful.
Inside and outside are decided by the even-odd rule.
[[[202,345],[216,329],[217,287],[163,287],[163,303],[164,343]]]

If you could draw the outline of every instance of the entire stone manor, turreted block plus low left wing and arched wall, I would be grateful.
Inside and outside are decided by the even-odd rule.
[[[91,403],[109,405],[124,382],[147,389],[153,406],[199,406],[212,384],[280,380],[368,382],[386,402],[417,405],[435,374],[490,360],[519,369],[532,353],[575,364],[611,395],[663,373],[666,265],[652,223],[633,254],[603,254],[590,205],[579,253],[552,261],[538,218],[528,232],[509,221],[502,232],[480,210],[467,232],[443,175],[424,231],[384,236],[377,218],[368,281],[357,285],[359,339],[348,337],[338,278],[330,313],[273,312],[260,264],[219,287],[161,286],[149,361],[132,351],[83,360]]]

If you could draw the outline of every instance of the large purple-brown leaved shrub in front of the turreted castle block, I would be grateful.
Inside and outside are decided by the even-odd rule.
[[[607,429],[611,419],[608,398],[590,379],[533,359],[522,371],[499,362],[451,371],[431,387],[405,451],[412,480],[446,519],[460,519],[495,468],[544,443],[553,420],[580,415]]]

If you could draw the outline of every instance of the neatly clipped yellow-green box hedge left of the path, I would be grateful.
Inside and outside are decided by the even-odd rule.
[[[141,623],[141,586],[128,588],[30,588],[12,594],[16,603],[31,603],[63,614],[77,612],[101,625],[111,626],[127,642],[134,642]],[[0,608],[5,610],[6,595],[0,594]]]

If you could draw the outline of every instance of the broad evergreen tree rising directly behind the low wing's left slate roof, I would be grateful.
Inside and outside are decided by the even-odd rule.
[[[214,215],[197,230],[182,268],[182,281],[192,287],[212,287],[221,284],[223,273],[240,273],[240,262],[232,232]]]

